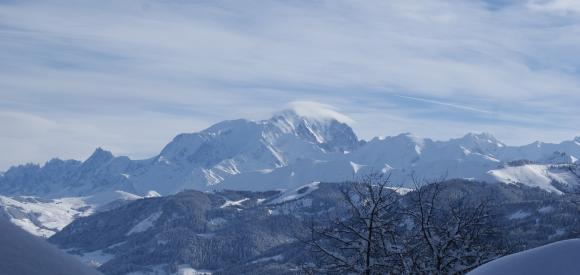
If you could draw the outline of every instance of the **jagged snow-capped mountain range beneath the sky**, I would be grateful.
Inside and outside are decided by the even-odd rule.
[[[83,162],[53,159],[44,166],[13,167],[0,175],[0,194],[62,198],[115,190],[144,196],[151,190],[168,195],[184,189],[290,189],[379,171],[403,186],[411,184],[411,176],[528,183],[532,178],[505,168],[524,161],[549,170],[578,158],[580,138],[525,146],[508,146],[486,133],[448,141],[411,134],[363,141],[334,117],[286,110],[263,121],[224,121],[180,134],[150,159],[115,157],[98,148]]]

